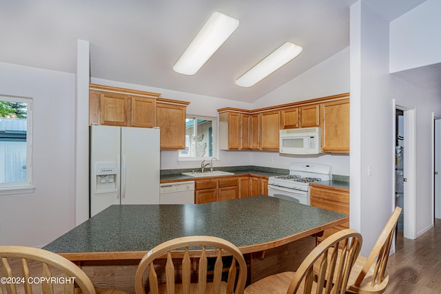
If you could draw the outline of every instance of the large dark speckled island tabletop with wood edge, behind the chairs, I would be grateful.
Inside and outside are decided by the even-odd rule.
[[[269,196],[206,204],[112,205],[43,248],[70,260],[141,259],[166,240],[213,235],[250,253],[345,221],[341,213]]]

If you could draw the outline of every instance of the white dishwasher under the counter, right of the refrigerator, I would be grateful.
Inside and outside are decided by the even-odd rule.
[[[194,204],[194,180],[159,184],[159,204]]]

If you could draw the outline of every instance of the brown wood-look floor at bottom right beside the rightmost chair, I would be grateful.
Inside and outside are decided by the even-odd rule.
[[[416,240],[398,231],[396,253],[389,257],[384,293],[441,293],[441,220]]]

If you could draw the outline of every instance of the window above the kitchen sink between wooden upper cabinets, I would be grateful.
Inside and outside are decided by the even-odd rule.
[[[203,160],[216,156],[216,120],[206,117],[187,117],[185,120],[185,150],[180,160]]]

